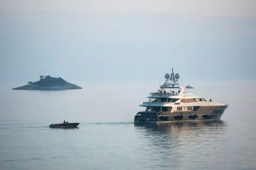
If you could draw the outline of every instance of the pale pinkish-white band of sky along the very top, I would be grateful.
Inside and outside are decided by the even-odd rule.
[[[255,0],[1,0],[12,12],[256,17]]]

